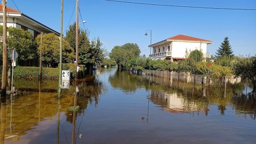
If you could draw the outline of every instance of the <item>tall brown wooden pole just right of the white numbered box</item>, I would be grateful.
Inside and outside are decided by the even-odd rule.
[[[78,27],[78,0],[76,0],[76,7],[77,7],[77,18],[76,18],[76,32],[75,32],[75,50],[76,50],[76,73],[75,73],[75,79],[78,79],[78,36],[79,36],[79,27]]]

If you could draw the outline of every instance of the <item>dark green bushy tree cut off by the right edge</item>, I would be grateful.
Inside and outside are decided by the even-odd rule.
[[[252,80],[253,91],[256,91],[256,55],[238,57],[234,60],[232,70],[235,76]]]

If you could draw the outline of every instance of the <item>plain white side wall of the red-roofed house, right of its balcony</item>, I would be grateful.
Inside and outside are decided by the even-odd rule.
[[[201,46],[200,46],[201,45]],[[193,43],[193,42],[178,42],[178,41],[173,41],[172,42],[172,57],[185,57],[185,51],[189,53],[189,51],[192,50],[202,50],[202,52],[205,54],[206,53],[206,48],[207,44],[206,43]]]

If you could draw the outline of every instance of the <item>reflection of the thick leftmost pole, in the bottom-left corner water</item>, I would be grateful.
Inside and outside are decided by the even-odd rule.
[[[0,131],[0,138],[1,138],[1,141],[0,143],[1,144],[4,144],[4,137],[5,137],[5,121],[6,121],[6,118],[5,118],[5,114],[6,114],[6,111],[5,111],[5,105],[6,105],[6,98],[5,97],[1,97],[1,131]]]

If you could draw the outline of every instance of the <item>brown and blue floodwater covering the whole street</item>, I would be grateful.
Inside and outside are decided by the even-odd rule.
[[[1,144],[256,143],[256,96],[244,81],[226,90],[157,77],[149,84],[110,68],[71,81],[61,98],[58,81],[14,86],[19,94],[1,98]]]

